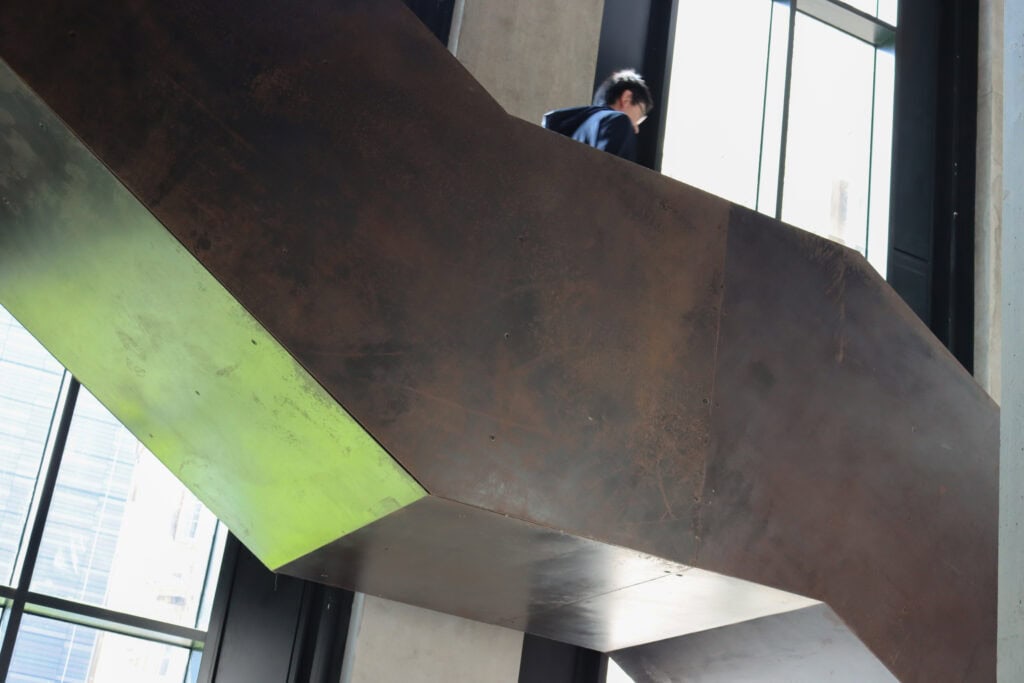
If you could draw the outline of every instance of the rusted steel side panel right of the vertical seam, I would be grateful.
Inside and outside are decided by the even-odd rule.
[[[998,410],[859,255],[736,208],[699,566],[904,681],[995,677]]]

